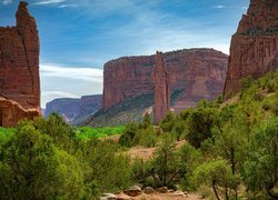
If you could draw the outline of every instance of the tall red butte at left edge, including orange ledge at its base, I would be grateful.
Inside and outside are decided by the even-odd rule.
[[[0,27],[0,126],[40,114],[39,36],[28,3],[20,1],[16,27]]]

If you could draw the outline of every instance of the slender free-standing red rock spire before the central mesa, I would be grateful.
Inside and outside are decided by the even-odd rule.
[[[170,80],[162,52],[157,52],[155,69],[153,123],[158,124],[170,110]]]

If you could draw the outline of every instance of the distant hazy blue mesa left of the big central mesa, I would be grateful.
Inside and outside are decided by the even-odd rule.
[[[46,117],[51,112],[61,114],[66,121],[73,122],[93,114],[101,108],[102,96],[83,96],[80,99],[54,99],[47,103]]]

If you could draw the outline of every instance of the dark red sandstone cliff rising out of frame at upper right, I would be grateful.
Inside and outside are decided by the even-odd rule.
[[[278,70],[278,0],[251,0],[231,38],[225,99],[240,90],[240,80]]]

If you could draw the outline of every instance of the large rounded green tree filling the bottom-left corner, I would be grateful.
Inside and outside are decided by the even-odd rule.
[[[79,162],[32,123],[21,123],[0,154],[1,199],[81,198]]]

